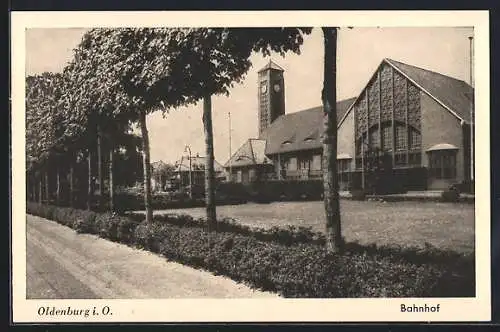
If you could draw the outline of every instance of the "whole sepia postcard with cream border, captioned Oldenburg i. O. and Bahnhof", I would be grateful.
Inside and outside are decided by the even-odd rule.
[[[488,29],[13,12],[13,322],[489,321]]]

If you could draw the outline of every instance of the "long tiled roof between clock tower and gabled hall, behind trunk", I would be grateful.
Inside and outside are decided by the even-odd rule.
[[[356,98],[337,102],[337,121],[340,121]],[[277,118],[260,139],[266,140],[265,154],[276,154],[322,147],[323,106],[284,114]]]

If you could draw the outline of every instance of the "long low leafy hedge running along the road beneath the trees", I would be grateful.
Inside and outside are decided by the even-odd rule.
[[[138,246],[285,297],[472,297],[475,294],[473,255],[357,244],[347,244],[342,255],[330,255],[314,241],[293,245],[273,240],[300,233],[290,229],[283,231],[286,236],[275,234],[264,241],[257,238],[256,232],[229,222],[227,225],[222,222],[219,232],[209,233],[202,221],[182,216],[156,218],[146,224],[137,217],[34,203],[28,203],[27,210],[77,231]]]

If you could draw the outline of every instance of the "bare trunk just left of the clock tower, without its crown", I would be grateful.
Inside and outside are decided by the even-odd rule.
[[[214,134],[212,129],[212,100],[209,94],[203,98],[203,127],[205,129],[205,205],[209,231],[217,229],[215,208]]]

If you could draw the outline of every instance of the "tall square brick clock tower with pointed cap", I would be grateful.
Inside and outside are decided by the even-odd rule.
[[[259,70],[259,136],[280,115],[285,114],[283,68],[272,60]]]

